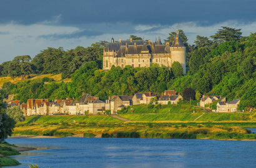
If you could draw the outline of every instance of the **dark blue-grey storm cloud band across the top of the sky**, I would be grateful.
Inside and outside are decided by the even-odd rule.
[[[87,23],[161,24],[197,21],[205,26],[227,20],[255,21],[253,0],[190,0],[190,1],[4,1],[0,6],[0,21],[33,24],[61,15],[59,24]],[[246,16],[246,17],[245,17]]]

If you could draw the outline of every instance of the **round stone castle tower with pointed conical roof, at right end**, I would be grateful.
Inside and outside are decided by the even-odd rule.
[[[183,67],[183,74],[186,74],[186,47],[182,43],[179,35],[179,29],[177,27],[176,37],[174,39],[174,44],[170,47],[170,55],[172,58],[172,62],[179,62]]]

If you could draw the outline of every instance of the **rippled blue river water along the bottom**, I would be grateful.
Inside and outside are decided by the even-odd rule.
[[[28,167],[256,167],[256,141],[143,138],[7,139],[39,150],[13,156]]]

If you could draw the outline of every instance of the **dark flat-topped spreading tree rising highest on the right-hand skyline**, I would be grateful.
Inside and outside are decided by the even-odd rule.
[[[210,37],[214,39],[218,44],[223,44],[227,41],[235,41],[240,42],[242,38],[242,29],[234,29],[231,27],[221,26],[222,29],[219,29],[215,35],[211,35]]]

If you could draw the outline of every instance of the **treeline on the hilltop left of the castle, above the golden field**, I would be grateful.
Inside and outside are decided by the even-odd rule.
[[[106,42],[92,44],[91,47],[77,46],[76,49],[64,51],[48,47],[31,59],[29,55],[15,57],[12,61],[0,65],[1,77],[21,77],[24,79],[32,73],[62,73],[62,79],[69,78],[84,63],[96,61],[102,66],[103,47]]]

